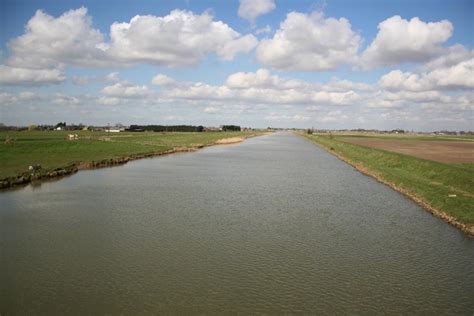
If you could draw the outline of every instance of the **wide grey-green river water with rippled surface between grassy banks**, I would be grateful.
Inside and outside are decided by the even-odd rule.
[[[474,239],[276,133],[0,193],[0,314],[474,312]]]

